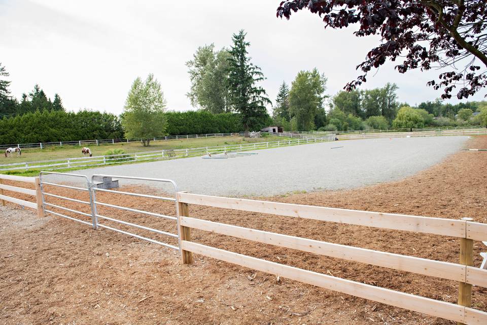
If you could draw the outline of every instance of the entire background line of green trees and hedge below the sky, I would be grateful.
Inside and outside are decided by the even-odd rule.
[[[436,100],[413,107],[398,102],[398,87],[394,83],[375,89],[351,88],[330,97],[326,94],[328,80],[316,68],[298,72],[290,85],[283,82],[272,105],[265,89],[260,86],[265,77],[252,62],[249,46],[245,31],[240,30],[232,35],[229,47],[217,50],[211,44],[197,48],[193,59],[186,62],[191,81],[187,96],[199,109],[196,112],[167,112],[161,85],[152,74],[145,80],[140,77],[134,80],[120,116],[98,113],[101,117],[93,117],[90,115],[93,112],[87,111],[66,113],[60,96],[55,94],[54,101],[51,101],[38,85],[28,95],[22,94],[21,101],[17,101],[10,95],[10,82],[0,78],[0,117],[3,117],[0,133],[4,139],[10,139],[2,142],[124,136],[141,139],[144,145],[149,145],[150,139],[163,135],[242,130],[248,135],[249,131],[269,124],[284,126],[286,131],[344,131],[484,123],[483,102],[451,105]],[[9,76],[1,64],[0,76]],[[272,117],[267,113],[266,106],[269,105]],[[46,122],[49,114],[52,114],[51,120],[60,122]],[[91,133],[79,131],[77,125],[66,130],[64,125],[67,124],[63,119],[69,114],[76,116],[73,123],[86,125],[85,131],[91,130]],[[83,117],[87,120],[82,121],[80,118]],[[45,130],[24,135],[22,130],[31,127],[29,120],[39,121],[38,125],[43,125]],[[97,125],[91,125],[94,123]],[[61,125],[63,129],[57,129]]]

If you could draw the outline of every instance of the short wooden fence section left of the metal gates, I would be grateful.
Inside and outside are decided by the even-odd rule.
[[[36,189],[30,189],[25,187],[17,187],[12,185],[4,184],[4,180],[31,183],[36,186]],[[28,194],[30,196],[36,197],[36,202],[30,202],[21,200],[15,197],[11,197],[5,194],[4,190]],[[5,202],[12,202],[24,207],[32,208],[37,210],[37,215],[39,217],[44,216],[42,208],[42,193],[41,193],[41,183],[39,177],[24,177],[24,176],[14,176],[14,175],[2,175],[0,174],[0,200],[2,200],[2,206],[5,206]]]

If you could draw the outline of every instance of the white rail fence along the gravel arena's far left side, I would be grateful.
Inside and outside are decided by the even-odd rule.
[[[93,156],[93,157],[79,157],[79,158],[66,158],[55,160],[40,160],[40,161],[28,161],[25,163],[14,163],[0,165],[0,172],[13,171],[13,170],[30,170],[30,169],[42,169],[42,170],[57,170],[66,168],[78,168],[78,167],[91,167],[100,165],[113,165],[132,161],[147,161],[147,160],[160,160],[160,159],[175,159],[181,157],[194,157],[200,155],[206,155],[208,153],[224,153],[226,151],[246,151],[265,148],[276,148],[284,146],[301,145],[307,143],[326,142],[334,140],[335,135],[327,135],[326,137],[314,137],[296,140],[281,140],[272,142],[258,142],[258,143],[246,143],[237,145],[224,145],[214,147],[201,147],[201,148],[189,148],[189,149],[174,149],[174,150],[156,150],[137,153],[123,153],[106,156]]]

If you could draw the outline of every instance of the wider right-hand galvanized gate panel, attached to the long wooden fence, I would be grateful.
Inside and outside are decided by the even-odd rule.
[[[94,180],[94,178],[97,178],[97,177],[113,177],[113,178],[122,178],[122,179],[134,179],[134,180],[145,180],[145,181],[154,181],[154,182],[170,183],[174,187],[174,190],[175,190],[175,198],[167,198],[167,197],[161,197],[161,196],[153,196],[153,195],[149,195],[149,194],[131,193],[131,192],[124,192],[124,191],[116,191],[116,190],[112,190],[112,189],[97,188],[97,187],[93,186],[93,180]],[[162,245],[162,246],[169,247],[169,248],[176,249],[176,250],[179,250],[180,249],[178,247],[179,245],[178,246],[170,245],[170,244],[163,243],[163,242],[160,242],[160,241],[157,241],[157,240],[154,240],[154,239],[150,239],[150,238],[147,238],[147,237],[143,237],[143,236],[140,236],[140,235],[136,235],[136,234],[133,234],[133,233],[129,233],[129,232],[126,232],[126,231],[123,231],[123,230],[120,230],[120,229],[112,228],[112,227],[110,227],[108,225],[99,223],[98,222],[98,218],[104,219],[104,220],[113,221],[113,222],[117,222],[117,223],[124,224],[124,225],[128,225],[128,226],[132,226],[132,227],[138,228],[138,229],[143,229],[143,230],[146,230],[146,231],[150,231],[150,232],[153,232],[153,233],[157,233],[159,235],[165,235],[165,236],[169,236],[169,237],[173,237],[173,238],[178,238],[178,242],[179,242],[179,234],[176,235],[176,234],[164,232],[164,231],[161,231],[161,230],[157,230],[157,229],[154,229],[154,228],[149,228],[149,227],[146,227],[146,226],[143,226],[143,225],[140,225],[140,224],[135,224],[135,223],[131,223],[131,222],[127,222],[127,221],[123,221],[123,220],[119,220],[119,219],[115,219],[115,218],[110,218],[110,217],[107,217],[107,216],[103,216],[103,215],[98,214],[97,213],[97,209],[96,209],[96,205],[101,205],[101,206],[107,206],[107,207],[111,207],[111,208],[115,208],[115,209],[120,209],[120,210],[126,210],[126,211],[131,211],[131,212],[136,212],[136,213],[147,214],[147,215],[150,215],[150,216],[155,216],[155,217],[160,217],[160,218],[165,218],[165,219],[170,219],[170,220],[177,220],[177,218],[176,217],[173,217],[173,216],[168,216],[168,215],[154,213],[154,212],[148,212],[148,211],[142,211],[142,210],[137,210],[137,209],[132,209],[132,208],[128,208],[128,207],[122,207],[122,206],[118,206],[118,205],[113,205],[113,204],[108,204],[108,203],[96,201],[96,191],[101,191],[101,192],[111,192],[111,193],[116,193],[116,194],[123,194],[123,195],[128,195],[128,196],[134,196],[134,197],[143,197],[143,198],[157,199],[157,200],[162,200],[162,201],[176,202],[176,193],[178,192],[178,185],[174,181],[169,180],[169,179],[159,179],[159,178],[130,177],[130,176],[95,174],[95,175],[91,176],[91,184],[92,184],[91,185],[91,189],[92,189],[92,192],[93,192],[93,195],[92,195],[92,203],[93,203],[92,204],[92,208],[93,208],[93,224],[94,224],[95,228],[101,227],[101,228],[113,230],[115,232],[118,232],[118,233],[121,233],[121,234],[124,234],[124,235],[128,235],[128,236],[132,236],[132,237],[135,237],[135,238],[138,238],[138,239],[146,240],[146,241],[151,242],[151,243],[154,243],[154,244]],[[179,232],[179,225],[178,225],[178,232]]]

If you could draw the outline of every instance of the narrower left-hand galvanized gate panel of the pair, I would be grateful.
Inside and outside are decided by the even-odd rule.
[[[45,181],[43,181],[43,175],[46,175],[46,174],[48,174],[48,175],[62,175],[62,176],[83,178],[83,179],[86,180],[86,188],[77,187],[77,186],[69,186],[69,185],[61,185],[61,184],[56,184],[56,183],[51,183],[51,182],[45,182]],[[70,220],[73,220],[73,221],[81,222],[83,224],[92,225],[93,228],[95,228],[95,220],[93,218],[93,216],[94,216],[94,213],[93,213],[93,205],[91,204],[91,202],[93,201],[92,200],[92,196],[91,196],[91,183],[90,183],[90,180],[88,179],[88,177],[86,177],[85,175],[77,175],[77,174],[56,173],[56,172],[41,172],[40,173],[40,176],[39,176],[39,180],[40,180],[40,187],[41,187],[41,194],[42,194],[41,195],[42,196],[42,207],[44,209],[44,212],[49,212],[49,213],[52,213],[54,215],[57,215],[57,216],[66,218],[66,219],[70,219]],[[86,191],[90,195],[90,202],[82,201],[82,200],[78,200],[78,199],[73,199],[73,198],[67,198],[67,197],[63,197],[63,196],[56,195],[56,194],[53,194],[53,193],[47,193],[44,190],[43,185],[50,185],[50,186],[57,186],[57,187],[70,188],[70,189],[75,189],[75,190],[80,190],[80,191]],[[58,198],[58,199],[61,199],[61,200],[67,200],[67,201],[73,201],[73,202],[88,204],[90,206],[90,208],[91,208],[91,214],[86,213],[86,212],[82,212],[82,211],[78,211],[78,210],[74,210],[74,209],[69,209],[69,208],[66,208],[66,207],[63,207],[63,206],[60,206],[60,205],[56,205],[56,204],[52,204],[52,203],[47,203],[46,200],[45,200],[45,196],[54,197],[54,198]],[[80,219],[77,219],[77,218],[74,218],[74,217],[70,217],[70,216],[64,215],[64,214],[59,213],[59,212],[54,212],[52,210],[48,210],[48,209],[46,209],[46,206],[53,207],[53,208],[56,208],[56,209],[65,210],[65,211],[69,211],[69,212],[73,212],[73,213],[77,213],[77,214],[81,214],[81,215],[90,217],[91,218],[91,223],[88,222],[88,221],[84,221],[84,220],[80,220]]]

